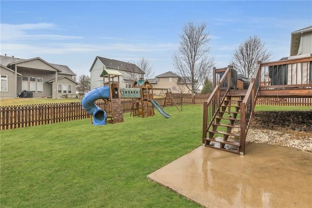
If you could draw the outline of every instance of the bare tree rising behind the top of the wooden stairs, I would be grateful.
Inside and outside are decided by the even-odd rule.
[[[265,43],[261,42],[256,35],[249,37],[235,49],[232,56],[231,65],[248,79],[252,78],[257,66],[257,62],[267,62],[271,59],[272,52],[265,48]]]

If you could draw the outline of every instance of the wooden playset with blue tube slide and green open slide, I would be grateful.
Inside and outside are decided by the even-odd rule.
[[[153,86],[147,79],[136,80],[133,88],[119,88],[120,76],[122,74],[116,70],[103,69],[100,75],[103,77],[103,86],[91,90],[82,98],[82,108],[93,116],[93,125],[105,125],[105,122],[113,124],[123,122],[121,98],[133,100],[131,109],[133,116],[142,118],[154,116],[154,108],[156,108],[165,118],[171,117],[154,100]],[[99,99],[109,104],[109,114],[95,104]]]

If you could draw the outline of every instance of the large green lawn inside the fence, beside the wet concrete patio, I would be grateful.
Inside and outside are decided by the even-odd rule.
[[[201,145],[202,106],[1,131],[1,207],[198,207],[147,175]]]

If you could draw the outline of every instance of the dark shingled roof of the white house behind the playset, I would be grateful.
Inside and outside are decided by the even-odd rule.
[[[100,62],[103,63],[103,65],[106,68],[115,69],[115,70],[122,70],[122,71],[130,71],[135,72],[138,74],[144,74],[144,71],[142,71],[136,64],[130,63],[130,62],[121,62],[114,59],[107,59],[100,56],[97,56],[96,59],[98,59]],[[96,61],[96,60],[95,60]],[[91,71],[95,61],[93,62],[91,68],[89,71]]]

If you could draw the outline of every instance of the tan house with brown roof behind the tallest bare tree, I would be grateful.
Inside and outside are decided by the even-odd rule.
[[[191,91],[187,88],[186,84],[183,82],[182,78],[179,75],[173,73],[172,71],[165,72],[155,77],[156,83],[154,80],[151,80],[151,83],[153,84],[154,88],[171,89],[173,93],[181,93],[181,92],[187,94],[191,93]],[[190,87],[191,84],[190,78],[187,79],[187,84]],[[158,93],[158,91],[156,90],[154,91],[155,94]]]

